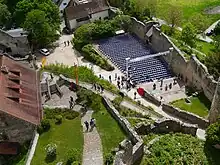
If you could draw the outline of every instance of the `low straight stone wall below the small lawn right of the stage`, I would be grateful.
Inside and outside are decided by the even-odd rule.
[[[166,113],[171,114],[172,116],[182,119],[183,121],[189,122],[191,124],[198,124],[198,126],[202,129],[207,128],[209,125],[208,120],[205,120],[202,117],[195,115],[193,113],[175,108],[171,105],[163,104],[162,110]]]

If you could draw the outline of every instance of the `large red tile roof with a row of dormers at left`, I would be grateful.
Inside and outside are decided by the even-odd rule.
[[[0,111],[35,125],[42,119],[39,72],[2,55]]]

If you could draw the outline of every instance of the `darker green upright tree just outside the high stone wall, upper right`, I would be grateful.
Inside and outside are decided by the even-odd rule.
[[[189,45],[191,48],[195,46],[196,42],[196,29],[191,23],[187,23],[183,26],[181,32],[181,39],[185,44]]]

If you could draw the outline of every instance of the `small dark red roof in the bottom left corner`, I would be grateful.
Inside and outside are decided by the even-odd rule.
[[[16,155],[20,145],[17,142],[0,142],[0,154]]]

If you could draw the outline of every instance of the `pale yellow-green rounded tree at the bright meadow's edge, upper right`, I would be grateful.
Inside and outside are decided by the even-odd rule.
[[[198,30],[204,31],[208,24],[208,19],[206,16],[197,13],[190,18],[190,23],[195,26]]]

